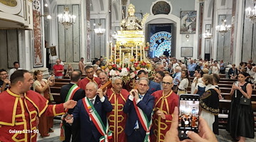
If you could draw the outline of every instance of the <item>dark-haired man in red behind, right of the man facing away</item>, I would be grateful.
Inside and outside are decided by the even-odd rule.
[[[81,89],[85,90],[85,87],[89,82],[95,82],[98,85],[100,84],[100,79],[98,77],[93,77],[93,74],[94,74],[94,71],[93,71],[92,65],[87,65],[85,67],[86,77],[79,82],[79,87]]]

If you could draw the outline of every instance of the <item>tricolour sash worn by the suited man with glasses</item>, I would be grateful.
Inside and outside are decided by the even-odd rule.
[[[146,131],[146,136],[144,138],[144,141],[143,142],[150,142],[150,129],[151,129],[151,126],[152,126],[152,119],[149,121],[146,114],[144,114],[144,112],[142,111],[142,109],[140,109],[137,104],[136,104],[136,101],[135,99],[133,99],[133,104],[134,104],[134,108],[136,110],[136,113],[137,113],[137,116],[139,117],[139,121],[141,122],[142,124],[142,127],[144,129],[144,131]],[[151,113],[151,116],[152,116],[153,113]]]

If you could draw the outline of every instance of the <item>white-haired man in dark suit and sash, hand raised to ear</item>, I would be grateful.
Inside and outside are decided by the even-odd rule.
[[[108,101],[107,97],[103,96],[102,89],[98,89],[98,85],[95,82],[89,82],[85,87],[86,97],[78,101],[77,106],[73,111],[73,119],[68,120],[69,124],[78,123],[80,126],[80,141],[82,142],[97,142],[102,134],[95,126],[95,122],[92,121],[92,116],[89,114],[99,114],[100,119],[103,122],[102,126],[107,124],[107,112],[112,111],[112,105]],[[90,106],[86,106],[90,102],[93,104],[93,109]],[[90,113],[87,111],[90,109]],[[94,120],[95,118],[93,118]]]

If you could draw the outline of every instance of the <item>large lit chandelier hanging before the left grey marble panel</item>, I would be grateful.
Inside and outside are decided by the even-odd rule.
[[[70,28],[75,23],[76,16],[69,14],[68,7],[65,7],[64,14],[60,13],[58,14],[58,22],[63,24],[65,29]]]

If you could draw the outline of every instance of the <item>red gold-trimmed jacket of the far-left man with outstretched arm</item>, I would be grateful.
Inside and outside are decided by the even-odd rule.
[[[7,89],[0,94],[0,104],[0,141],[36,141],[36,116],[64,114],[63,104],[48,105],[31,90],[21,98]]]

